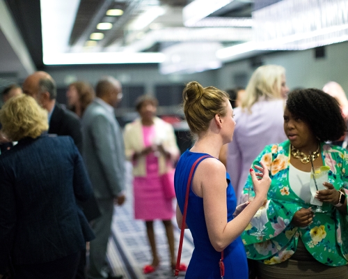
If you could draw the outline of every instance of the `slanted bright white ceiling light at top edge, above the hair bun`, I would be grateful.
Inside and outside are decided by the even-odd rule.
[[[194,0],[182,9],[185,26],[192,26],[199,20],[211,15],[233,0]]]

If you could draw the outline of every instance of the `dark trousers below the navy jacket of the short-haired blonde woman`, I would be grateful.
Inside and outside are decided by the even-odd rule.
[[[15,265],[15,279],[74,279],[81,252],[45,264]]]

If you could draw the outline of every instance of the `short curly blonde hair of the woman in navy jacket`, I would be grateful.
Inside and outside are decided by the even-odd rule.
[[[10,98],[0,110],[1,131],[12,141],[38,137],[48,130],[47,111],[25,94]]]

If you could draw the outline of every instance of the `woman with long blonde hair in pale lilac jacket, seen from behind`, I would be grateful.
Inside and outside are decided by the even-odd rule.
[[[235,134],[228,144],[227,172],[235,188],[237,204],[248,176],[248,169],[265,145],[283,142],[283,112],[289,88],[285,68],[260,66],[251,76],[242,103],[234,110]]]

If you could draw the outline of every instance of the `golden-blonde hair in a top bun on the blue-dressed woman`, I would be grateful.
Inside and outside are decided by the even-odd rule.
[[[200,134],[209,128],[216,114],[226,116],[228,93],[214,86],[203,87],[198,82],[189,82],[182,92],[184,114],[191,133]]]

